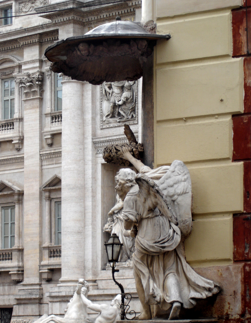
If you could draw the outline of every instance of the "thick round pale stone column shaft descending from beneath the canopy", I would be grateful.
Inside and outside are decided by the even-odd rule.
[[[62,285],[75,285],[84,271],[83,83],[62,81]]]

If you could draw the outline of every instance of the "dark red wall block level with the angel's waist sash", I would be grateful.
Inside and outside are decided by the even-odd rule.
[[[238,214],[233,218],[234,261],[251,260],[251,214]]]

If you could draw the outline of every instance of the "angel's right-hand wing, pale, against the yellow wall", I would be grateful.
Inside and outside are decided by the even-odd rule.
[[[192,184],[184,162],[174,161],[156,183],[172,205],[181,233],[189,235],[192,231]]]

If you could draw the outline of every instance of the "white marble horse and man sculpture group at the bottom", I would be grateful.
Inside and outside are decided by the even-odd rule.
[[[84,279],[79,279],[76,291],[67,304],[65,316],[43,315],[34,323],[115,323],[120,318],[121,295],[117,295],[110,305],[94,304],[87,299],[89,284]],[[93,319],[87,314],[87,307],[99,315]]]

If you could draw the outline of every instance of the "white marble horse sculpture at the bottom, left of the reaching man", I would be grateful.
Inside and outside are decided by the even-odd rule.
[[[78,280],[76,291],[65,309],[65,316],[61,318],[55,315],[43,315],[34,323],[71,323],[73,320],[78,323],[91,322],[92,319],[87,314],[87,306],[82,296],[87,297],[89,292],[89,284],[82,278]]]

